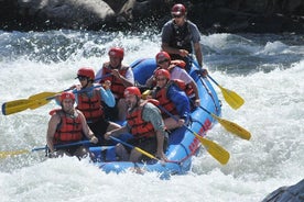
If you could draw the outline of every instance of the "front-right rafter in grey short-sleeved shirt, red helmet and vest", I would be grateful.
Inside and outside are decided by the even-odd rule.
[[[166,160],[167,133],[160,110],[148,100],[141,99],[141,92],[137,87],[128,87],[124,90],[124,98],[128,104],[127,124],[121,128],[105,134],[105,138],[119,136],[123,133],[131,133],[133,138],[128,143],[139,147],[155,157]],[[116,153],[120,160],[138,162],[145,160],[145,156],[135,148],[129,149],[122,144],[116,146]]]

